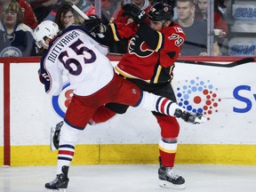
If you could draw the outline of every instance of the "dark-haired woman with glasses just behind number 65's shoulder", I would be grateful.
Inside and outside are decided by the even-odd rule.
[[[64,30],[70,25],[82,25],[84,23],[84,19],[80,18],[77,12],[65,2],[60,5],[55,18],[55,23],[58,24],[60,30]]]

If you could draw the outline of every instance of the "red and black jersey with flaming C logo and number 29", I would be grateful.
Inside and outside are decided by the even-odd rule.
[[[133,36],[128,45],[128,52],[116,66],[116,72],[129,77],[144,80],[150,84],[165,83],[172,79],[174,61],[177,60],[181,45],[185,42],[185,34],[177,23],[157,32],[158,38],[153,50],[145,42],[145,36]],[[127,34],[126,34],[127,35]]]

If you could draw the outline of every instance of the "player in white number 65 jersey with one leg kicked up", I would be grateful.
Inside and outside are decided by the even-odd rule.
[[[50,20],[40,23],[34,31],[36,45],[46,50],[41,58],[39,74],[45,92],[60,94],[62,75],[68,76],[74,89],[60,130],[57,176],[46,183],[45,188],[58,191],[68,188],[68,169],[78,135],[95,110],[106,103],[140,106],[167,116],[180,117],[192,124],[205,121],[202,114],[191,114],[172,100],[143,92],[136,84],[116,75],[106,57],[108,47],[84,26],[69,26],[58,34],[57,24]]]

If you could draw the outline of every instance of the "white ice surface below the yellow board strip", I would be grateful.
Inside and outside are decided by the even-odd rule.
[[[168,192],[158,187],[156,164],[71,165],[67,192]],[[56,166],[0,167],[1,192],[41,192]],[[177,164],[184,192],[254,192],[256,166]]]

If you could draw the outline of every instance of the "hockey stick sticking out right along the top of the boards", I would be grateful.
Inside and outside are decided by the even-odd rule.
[[[202,66],[209,66],[209,67],[220,67],[220,68],[233,68],[244,63],[253,62],[255,61],[253,58],[244,58],[241,60],[236,60],[234,62],[230,62],[227,64],[220,64],[220,63],[212,63],[212,62],[201,62],[201,61],[192,61],[192,60],[176,60],[177,62],[184,63],[184,64],[192,64],[192,65],[202,65]]]

